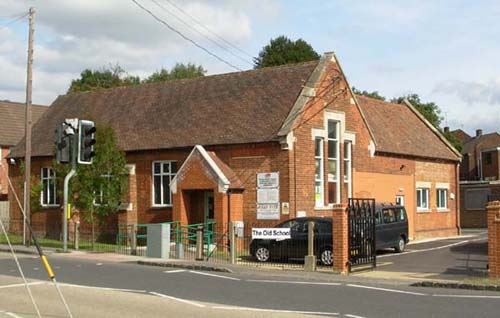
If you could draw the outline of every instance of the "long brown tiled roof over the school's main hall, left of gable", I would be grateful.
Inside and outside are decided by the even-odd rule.
[[[33,156],[54,152],[65,118],[110,124],[125,151],[275,140],[318,61],[60,96],[33,127]],[[24,155],[23,143],[11,156]]]

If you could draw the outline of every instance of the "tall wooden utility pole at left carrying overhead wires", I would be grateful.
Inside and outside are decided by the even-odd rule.
[[[28,67],[26,77],[26,115],[25,115],[25,143],[26,151],[24,153],[24,223],[23,229],[26,229],[26,222],[31,223],[30,194],[31,194],[31,95],[33,84],[33,35],[35,29],[35,8],[31,7],[29,11],[29,35],[28,35]],[[29,246],[31,241],[30,233],[23,231],[24,243]]]

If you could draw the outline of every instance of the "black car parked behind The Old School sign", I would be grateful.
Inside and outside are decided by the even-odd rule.
[[[275,228],[290,228],[290,239],[254,239],[250,253],[260,262],[304,259],[307,255],[308,222],[314,221],[314,254],[323,265],[332,265],[332,219],[303,217],[287,220]]]

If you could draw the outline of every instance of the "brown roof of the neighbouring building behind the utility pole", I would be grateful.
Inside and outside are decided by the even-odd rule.
[[[14,146],[24,137],[26,104],[0,101],[0,145]],[[35,123],[48,110],[47,106],[32,105],[31,119]]]

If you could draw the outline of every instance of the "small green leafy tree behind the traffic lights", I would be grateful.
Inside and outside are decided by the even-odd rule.
[[[116,143],[109,125],[97,125],[96,153],[91,165],[78,165],[77,174],[71,181],[70,200],[78,208],[83,220],[92,226],[92,243],[95,241],[96,219],[118,212],[127,191],[125,153]],[[58,188],[68,173],[69,165],[55,164]],[[62,196],[62,192],[61,192]]]

